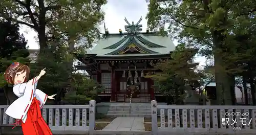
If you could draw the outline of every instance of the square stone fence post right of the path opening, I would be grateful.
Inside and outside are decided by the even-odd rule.
[[[156,100],[151,101],[151,109],[152,109],[151,132],[152,132],[152,135],[157,135],[158,127],[157,127],[157,101]]]

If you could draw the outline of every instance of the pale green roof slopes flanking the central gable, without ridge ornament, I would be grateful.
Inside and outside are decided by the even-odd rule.
[[[135,37],[134,40],[132,41],[135,42],[135,45],[137,47],[141,47],[142,50],[150,54],[169,54],[170,52],[175,50],[174,43],[172,42],[172,40],[170,40],[170,37],[168,36],[144,33],[139,34],[137,36],[138,37]],[[142,40],[140,37],[146,39],[146,41]],[[118,53],[118,51],[120,51],[121,49],[127,47],[127,43],[129,41],[131,41],[131,38],[126,35],[110,35],[109,37],[100,39],[94,48],[87,50],[87,54],[97,54],[96,56],[108,56],[115,54],[121,56],[122,54],[116,53]],[[150,43],[147,43],[147,41]],[[151,46],[148,44],[151,44]],[[137,56],[138,54],[130,55]],[[140,54],[140,56],[141,55],[143,56],[145,54]]]

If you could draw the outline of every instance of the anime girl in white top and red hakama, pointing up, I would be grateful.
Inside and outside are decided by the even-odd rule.
[[[54,99],[56,94],[48,96],[36,89],[38,80],[45,73],[45,69],[41,70],[38,76],[27,82],[30,74],[27,65],[13,62],[5,71],[4,77],[9,84],[13,84],[13,93],[18,97],[5,113],[16,119],[15,126],[21,123],[24,135],[52,135],[51,129],[42,118],[40,109],[47,99]]]

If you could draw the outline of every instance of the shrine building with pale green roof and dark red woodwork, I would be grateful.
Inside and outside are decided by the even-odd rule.
[[[152,85],[151,78],[145,78],[146,73],[154,72],[151,63],[170,58],[175,50],[170,37],[159,32],[142,31],[140,20],[134,24],[129,21],[126,32],[111,34],[105,29],[105,34],[93,49],[88,49],[86,55],[77,55],[80,62],[79,70],[86,70],[92,78],[104,87],[99,93],[103,101],[111,102],[150,102],[163,99]]]

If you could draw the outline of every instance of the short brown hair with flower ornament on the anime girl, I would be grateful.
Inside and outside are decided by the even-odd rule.
[[[8,68],[5,71],[4,76],[6,81],[9,84],[14,84],[14,78],[16,76],[16,73],[22,72],[22,71],[23,73],[26,71],[26,78],[24,80],[24,82],[26,82],[29,79],[29,74],[30,74],[29,66],[19,62],[13,62],[10,66],[8,66]]]

